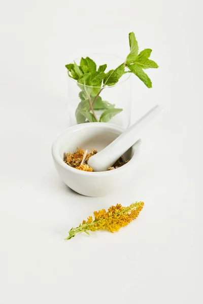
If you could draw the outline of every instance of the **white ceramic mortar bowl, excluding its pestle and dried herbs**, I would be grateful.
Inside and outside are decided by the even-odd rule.
[[[63,131],[52,146],[52,156],[61,180],[75,192],[88,197],[104,197],[123,191],[134,179],[139,164],[141,140],[132,145],[125,154],[124,160],[130,160],[117,170],[105,172],[86,172],[76,170],[63,162],[64,152],[76,150],[76,147],[91,151],[94,147],[98,153],[115,140],[123,128],[107,123],[84,123]],[[92,156],[93,157],[93,156]],[[119,157],[115,160],[115,162]]]

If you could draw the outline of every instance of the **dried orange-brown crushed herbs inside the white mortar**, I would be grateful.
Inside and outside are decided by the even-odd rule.
[[[93,172],[93,169],[88,166],[87,162],[89,158],[97,153],[97,150],[92,149],[90,153],[87,153],[87,150],[77,148],[75,153],[64,153],[63,161],[65,164],[82,171]],[[108,170],[114,170],[125,165],[127,161],[124,161],[122,157],[120,157],[112,167],[109,167]]]

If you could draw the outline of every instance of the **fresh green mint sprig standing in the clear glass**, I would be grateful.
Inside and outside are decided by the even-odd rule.
[[[133,32],[129,33],[130,53],[125,62],[116,69],[107,69],[107,64],[100,65],[97,69],[96,63],[89,57],[81,58],[80,65],[74,63],[66,64],[68,74],[78,83],[81,99],[76,109],[76,120],[78,124],[85,122],[108,122],[122,111],[115,108],[114,104],[104,101],[100,93],[106,86],[114,86],[126,72],[134,73],[148,87],[152,88],[152,82],[143,69],[157,68],[158,65],[150,60],[151,49],[145,49],[139,53],[138,42]],[[95,111],[103,111],[100,119],[97,119]]]

